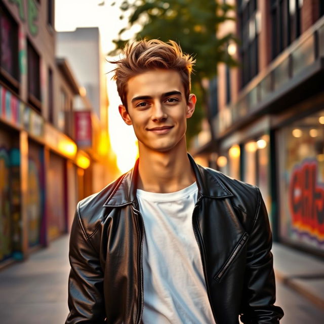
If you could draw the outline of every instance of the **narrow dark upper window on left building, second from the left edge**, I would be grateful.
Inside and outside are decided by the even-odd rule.
[[[28,60],[28,101],[36,108],[41,110],[41,82],[40,82],[40,71],[39,71],[39,55],[27,41],[27,60]]]

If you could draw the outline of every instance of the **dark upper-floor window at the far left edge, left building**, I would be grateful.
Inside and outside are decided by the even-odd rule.
[[[18,88],[18,24],[2,6],[0,6],[0,44],[2,78]]]

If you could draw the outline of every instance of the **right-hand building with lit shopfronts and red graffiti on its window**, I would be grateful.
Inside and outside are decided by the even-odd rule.
[[[195,154],[260,187],[276,240],[324,256],[324,3],[227,2],[240,65],[219,65],[216,139]]]

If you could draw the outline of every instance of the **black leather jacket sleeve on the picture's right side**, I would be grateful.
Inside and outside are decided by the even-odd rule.
[[[280,307],[274,306],[275,280],[270,252],[272,236],[264,201],[260,190],[257,190],[258,205],[248,241],[245,298],[242,301],[240,319],[245,324],[279,323],[284,312]]]

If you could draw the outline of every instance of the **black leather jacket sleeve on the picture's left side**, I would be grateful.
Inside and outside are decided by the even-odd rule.
[[[105,323],[103,272],[86,234],[77,205],[71,227],[68,282],[69,314],[65,324]]]

